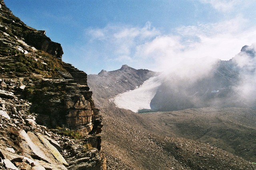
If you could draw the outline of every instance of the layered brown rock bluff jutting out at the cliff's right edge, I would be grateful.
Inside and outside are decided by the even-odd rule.
[[[70,65],[68,65],[70,69]],[[73,67],[74,68],[74,67]],[[81,72],[78,70],[78,72]],[[80,85],[76,82],[85,82],[84,72],[81,72],[82,80],[76,73],[78,79],[69,72],[59,72],[63,74],[62,79],[46,79],[40,84],[43,86],[58,87],[63,93],[44,92],[38,93],[37,103],[32,106],[32,110],[41,113],[42,117],[46,115],[46,121],[42,124],[56,127],[64,126],[69,129],[79,131],[82,135],[98,134],[101,132],[102,117],[98,114],[98,109],[94,106],[92,92],[88,91],[87,83]],[[86,74],[85,74],[86,75]],[[43,119],[42,119],[43,120]]]

